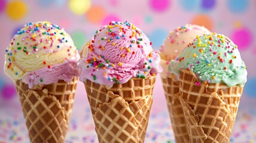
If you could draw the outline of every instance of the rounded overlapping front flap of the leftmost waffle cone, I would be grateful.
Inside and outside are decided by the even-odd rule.
[[[55,97],[29,89],[21,97],[21,106],[31,142],[64,142],[68,126]]]

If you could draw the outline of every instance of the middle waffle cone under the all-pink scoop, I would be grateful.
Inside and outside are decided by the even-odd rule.
[[[132,77],[112,88],[84,82],[99,142],[144,142],[155,80]]]

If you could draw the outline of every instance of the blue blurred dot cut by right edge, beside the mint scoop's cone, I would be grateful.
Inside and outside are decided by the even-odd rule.
[[[255,94],[256,88],[256,77],[248,78],[247,82],[245,83],[244,92],[248,97],[256,98]]]

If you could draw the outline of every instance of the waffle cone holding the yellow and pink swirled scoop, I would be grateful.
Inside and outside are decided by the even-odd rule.
[[[64,142],[77,83],[74,77],[69,83],[59,80],[29,89],[26,83],[16,81],[30,142]]]

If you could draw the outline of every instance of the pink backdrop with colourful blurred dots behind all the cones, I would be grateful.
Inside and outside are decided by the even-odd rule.
[[[184,24],[205,26],[238,45],[248,81],[230,142],[256,141],[256,1],[254,0],[0,0],[0,142],[29,142],[15,86],[4,74],[5,49],[24,24],[51,21],[66,29],[78,49],[109,21],[129,21],[155,51],[168,32]],[[84,85],[79,83],[66,142],[97,142]],[[158,75],[146,142],[173,142]]]

